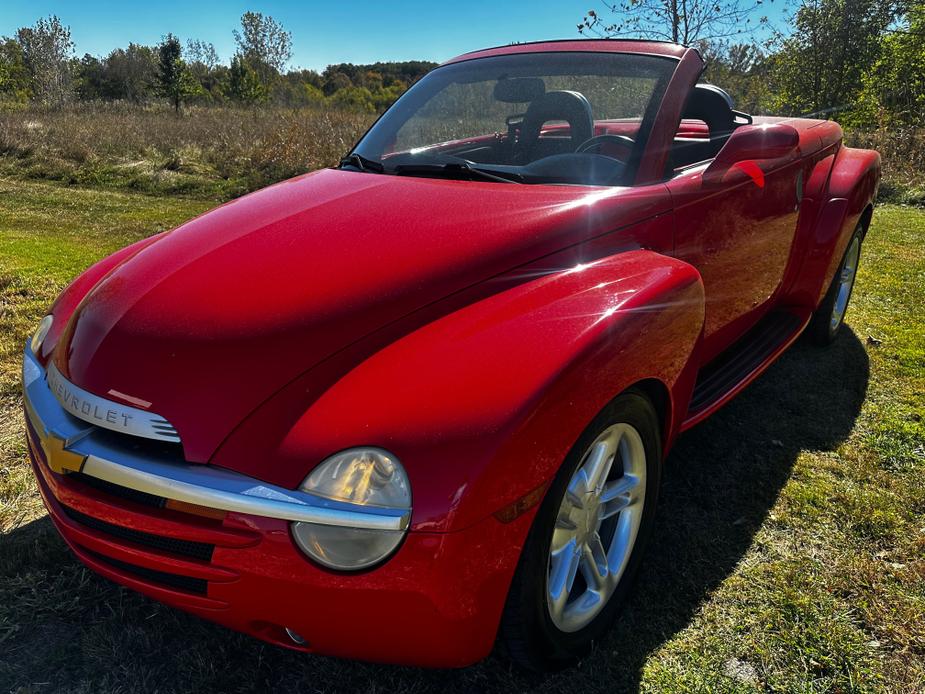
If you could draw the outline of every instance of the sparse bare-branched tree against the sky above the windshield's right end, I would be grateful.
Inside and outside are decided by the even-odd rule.
[[[752,15],[763,4],[764,0],[604,2],[608,12],[615,15],[614,21],[608,22],[595,10],[588,10],[578,32],[601,38],[655,38],[690,46],[754,32],[768,21],[767,17],[752,21]]]

